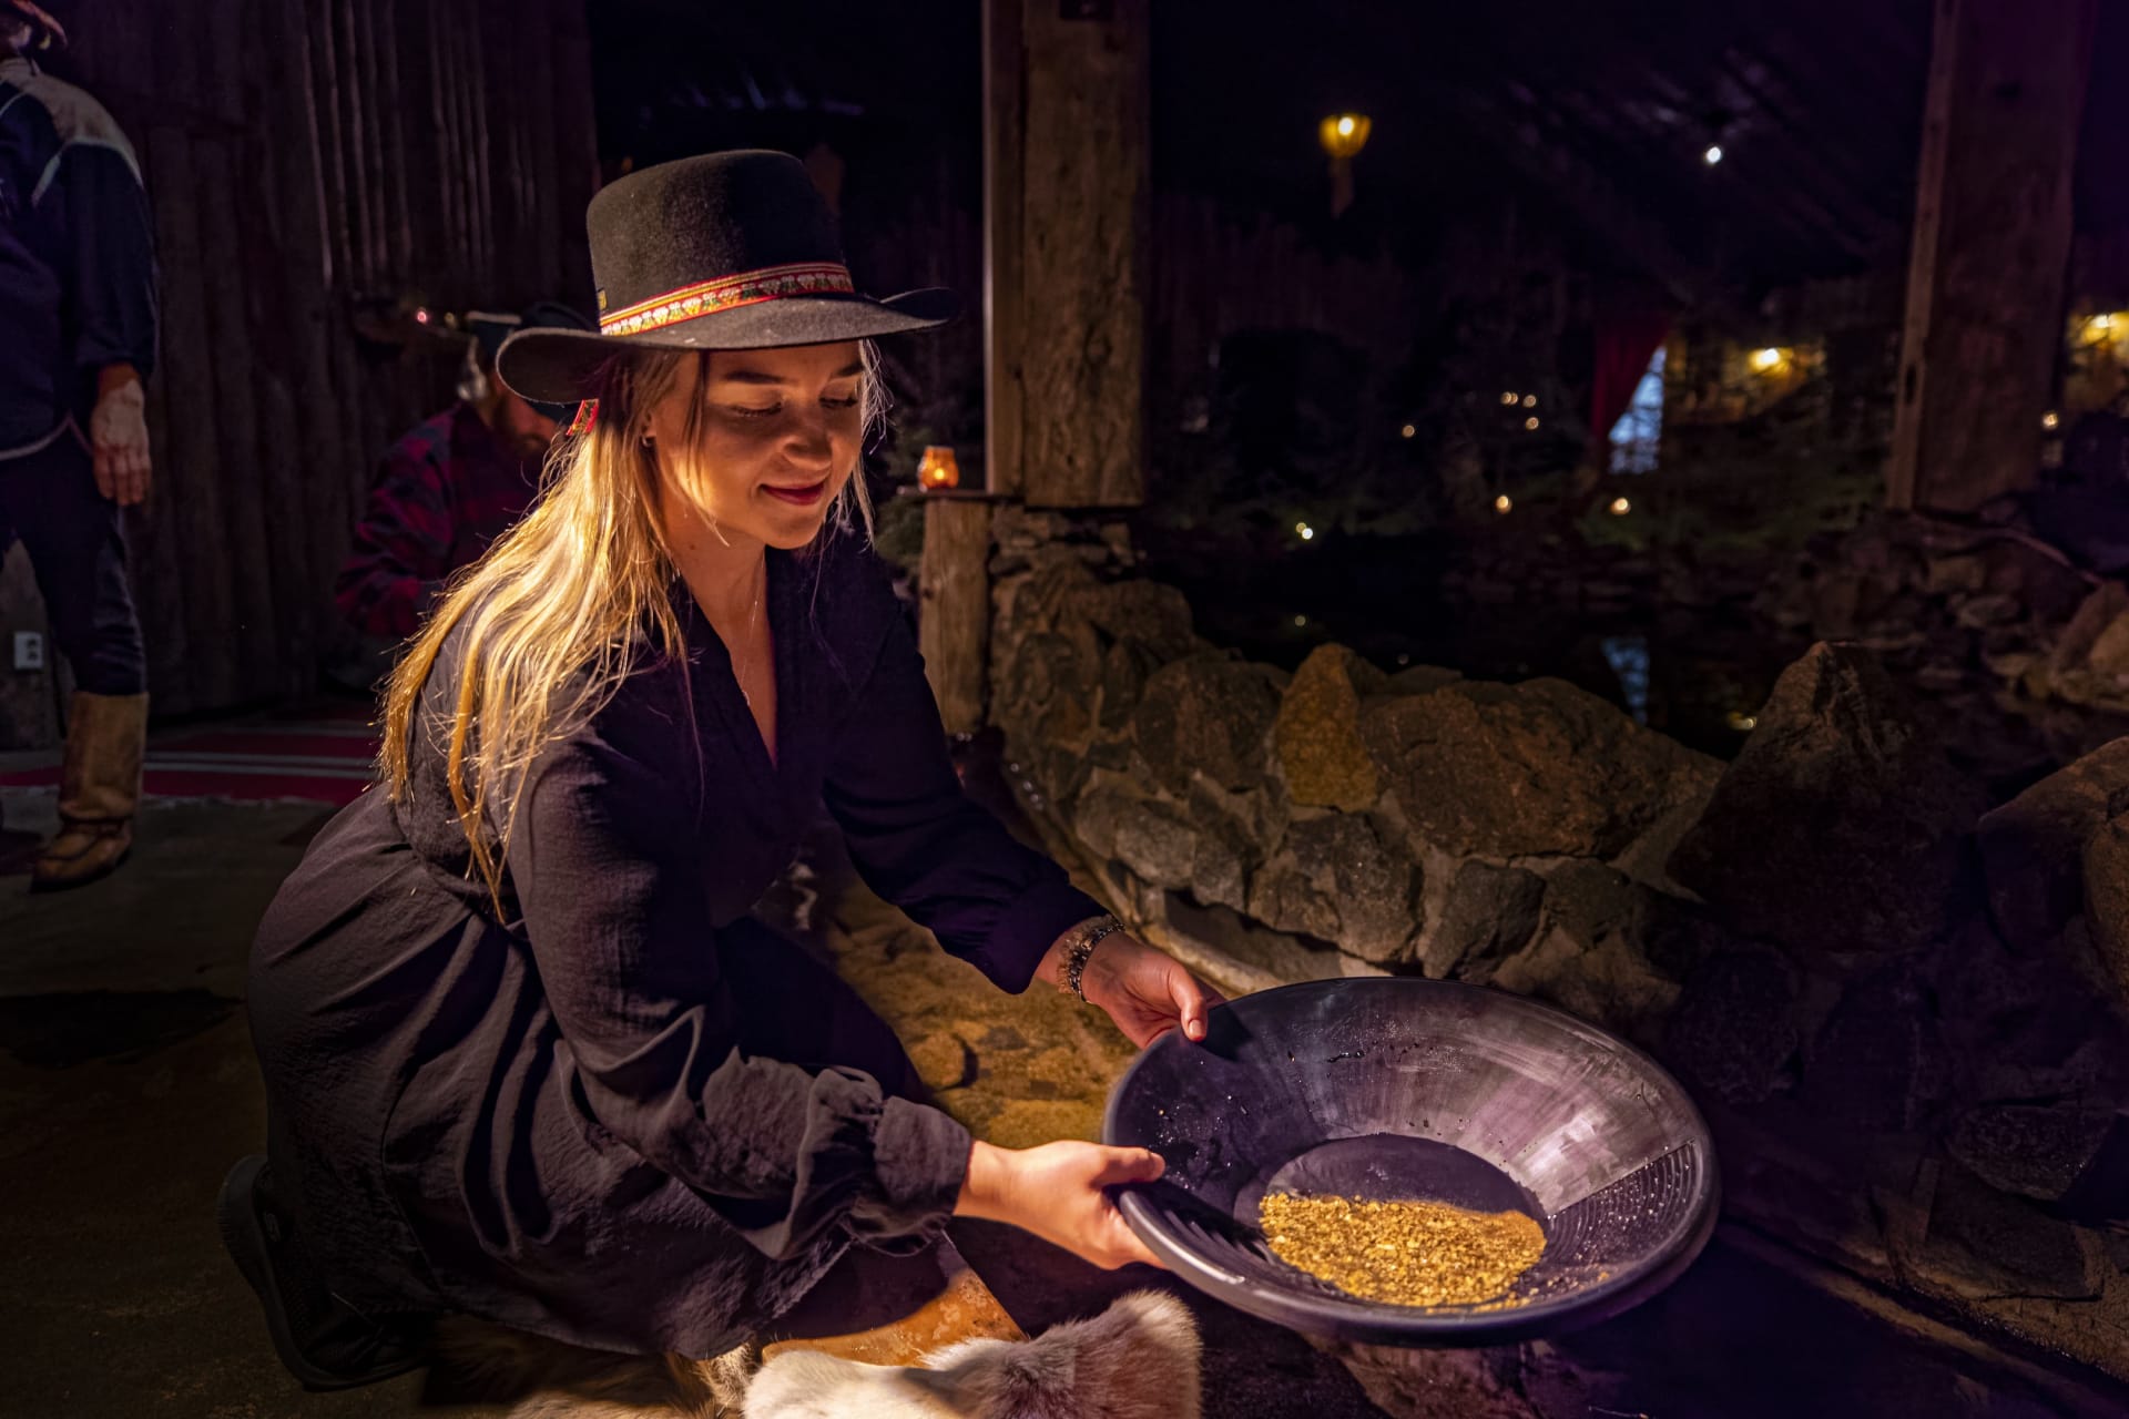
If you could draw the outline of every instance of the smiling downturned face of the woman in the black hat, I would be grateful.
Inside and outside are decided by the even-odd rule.
[[[726,538],[805,547],[858,468],[858,345],[711,351],[705,360],[705,377],[683,366],[649,413],[662,491]]]

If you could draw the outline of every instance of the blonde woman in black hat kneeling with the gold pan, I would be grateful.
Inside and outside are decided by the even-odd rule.
[[[383,781],[251,953],[270,1162],[230,1174],[224,1234],[311,1383],[413,1364],[407,1311],[717,1355],[950,1215],[1152,1259],[1105,1187],[1158,1155],[973,1142],[749,915],[815,804],[1001,989],[1073,989],[1141,1045],[1216,1000],[962,796],[867,545],[864,340],[952,298],[854,294],[783,153],[645,168],[588,226],[600,334],[498,366],[596,415],[400,657]]]

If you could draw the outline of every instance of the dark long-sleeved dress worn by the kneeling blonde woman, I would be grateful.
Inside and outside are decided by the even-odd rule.
[[[856,538],[769,555],[777,762],[679,600],[688,664],[534,764],[502,919],[443,779],[449,642],[407,802],[334,817],[266,913],[275,1176],[358,1304],[713,1355],[847,1247],[943,1225],[967,1132],[884,1087],[907,1064],[879,1019],[747,917],[820,804],[867,883],[1003,989],[1101,911],[962,796]]]

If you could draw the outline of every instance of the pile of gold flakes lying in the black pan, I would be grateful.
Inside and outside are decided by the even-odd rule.
[[[1467,1213],[1446,1202],[1360,1202],[1265,1193],[1258,1219],[1273,1255],[1341,1291],[1392,1306],[1499,1300],[1546,1253],[1522,1213]]]

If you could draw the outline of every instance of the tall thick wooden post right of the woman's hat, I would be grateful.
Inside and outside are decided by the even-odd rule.
[[[1018,419],[1007,411],[999,430],[1018,436],[1018,460],[1003,451],[1009,466],[992,487],[1018,487],[1028,506],[1145,498],[1150,4],[1022,0],[1018,9],[1018,126],[1007,113],[1007,128],[992,132],[990,164],[992,334],[1005,340],[992,368],[1011,377],[1018,366],[1020,379],[1003,385],[1005,398],[1018,391]],[[994,123],[1013,85],[999,21],[1007,11],[1009,0],[990,0]],[[999,187],[1016,168],[1018,213]],[[1018,270],[1013,251],[996,262],[1013,228]]]

